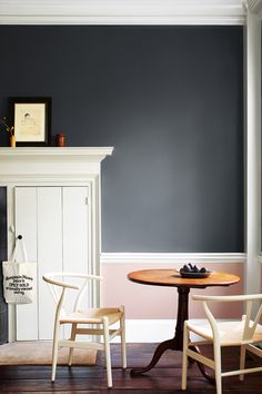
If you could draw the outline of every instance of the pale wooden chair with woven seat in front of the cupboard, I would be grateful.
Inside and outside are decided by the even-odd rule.
[[[107,378],[108,386],[112,387],[112,371],[111,371],[111,356],[110,356],[110,341],[120,335],[121,337],[121,351],[122,351],[122,367],[127,367],[127,355],[125,355],[125,338],[124,338],[124,307],[100,307],[100,308],[81,308],[81,302],[88,293],[91,295],[88,284],[94,280],[100,282],[101,276],[95,275],[84,275],[74,273],[50,273],[43,275],[43,280],[49,284],[51,294],[57,304],[54,328],[53,328],[53,348],[52,348],[52,375],[51,381],[54,382],[57,359],[58,359],[58,348],[69,347],[69,362],[72,364],[73,348],[97,348],[105,352],[105,364],[107,364]],[[64,282],[71,279],[71,283]],[[80,282],[80,285],[77,284]],[[72,294],[70,289],[78,290],[74,297],[74,303],[72,303]],[[72,292],[71,292],[72,293]],[[69,301],[73,307],[71,312],[66,312],[64,301]],[[84,298],[87,304],[87,297]],[[117,328],[110,327],[112,324],[118,323]],[[62,325],[70,325],[71,337],[69,339],[60,339],[60,327]],[[80,326],[79,326],[80,325]],[[77,335],[91,335],[95,336],[94,342],[79,341]],[[98,342],[98,336],[103,338],[103,342]]]

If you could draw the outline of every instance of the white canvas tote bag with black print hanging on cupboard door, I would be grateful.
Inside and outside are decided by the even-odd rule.
[[[22,248],[23,262],[17,262],[18,247]],[[37,264],[28,262],[22,236],[16,239],[16,246],[9,262],[2,262],[3,296],[10,304],[30,304],[33,302],[37,286]]]

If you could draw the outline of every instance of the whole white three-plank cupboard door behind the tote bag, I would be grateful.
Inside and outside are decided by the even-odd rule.
[[[16,233],[38,263],[38,297],[17,307],[17,341],[52,338],[54,303],[44,273],[90,270],[88,193],[88,187],[16,188]]]

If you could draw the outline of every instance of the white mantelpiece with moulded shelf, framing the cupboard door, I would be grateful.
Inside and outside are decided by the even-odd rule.
[[[0,148],[0,186],[7,188],[8,255],[16,235],[16,189],[19,187],[85,186],[89,211],[90,272],[100,273],[101,161],[112,147],[17,147]],[[99,288],[92,290],[99,305]],[[16,308],[9,305],[9,341],[16,341]]]

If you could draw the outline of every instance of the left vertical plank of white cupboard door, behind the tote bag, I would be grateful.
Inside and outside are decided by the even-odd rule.
[[[28,259],[37,262],[37,188],[16,187],[16,236],[23,236]],[[17,260],[23,260],[19,248]],[[39,286],[37,286],[38,288]],[[38,292],[32,304],[17,305],[17,341],[38,339]]]

